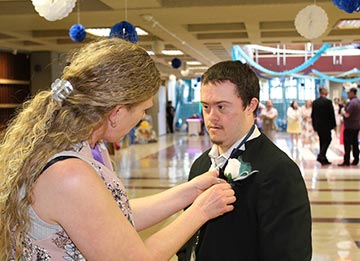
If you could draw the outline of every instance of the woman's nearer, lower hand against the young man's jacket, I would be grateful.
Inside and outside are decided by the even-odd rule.
[[[206,220],[223,215],[234,209],[235,192],[231,185],[224,182],[213,185],[198,196],[192,207],[200,209]]]

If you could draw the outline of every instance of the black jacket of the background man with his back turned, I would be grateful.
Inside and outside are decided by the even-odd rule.
[[[331,100],[319,97],[312,104],[311,119],[317,132],[330,131],[335,128],[334,106]]]

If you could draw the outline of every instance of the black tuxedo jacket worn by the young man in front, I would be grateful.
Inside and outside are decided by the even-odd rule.
[[[263,134],[245,146],[242,160],[259,172],[234,185],[234,211],[201,228],[196,260],[311,260],[310,204],[298,166]],[[208,152],[196,159],[189,179],[209,169]],[[194,241],[179,260],[189,260]]]

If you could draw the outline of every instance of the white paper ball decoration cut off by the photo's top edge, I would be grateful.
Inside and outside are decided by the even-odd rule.
[[[76,0],[32,0],[36,12],[48,21],[61,20],[74,9]]]

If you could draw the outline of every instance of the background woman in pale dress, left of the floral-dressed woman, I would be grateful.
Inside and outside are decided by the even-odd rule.
[[[291,145],[294,148],[299,145],[299,136],[301,134],[301,110],[297,101],[291,102],[286,115],[286,131],[290,134]]]

